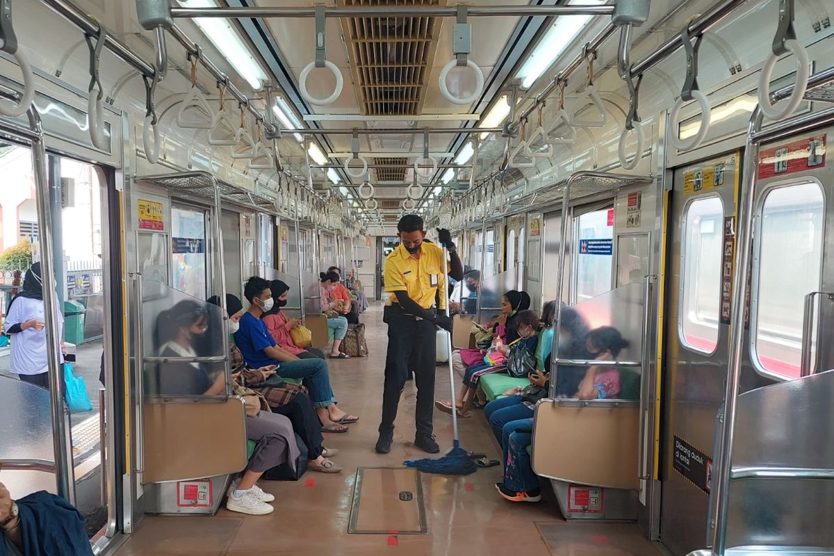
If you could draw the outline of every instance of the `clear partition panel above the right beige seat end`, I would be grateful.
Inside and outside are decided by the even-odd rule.
[[[557,357],[639,362],[645,289],[643,283],[630,283],[562,308]],[[585,385],[583,398],[640,398],[640,367],[595,367],[589,372],[590,365],[558,363],[553,368],[557,398],[577,398],[583,379],[591,375],[596,378]]]

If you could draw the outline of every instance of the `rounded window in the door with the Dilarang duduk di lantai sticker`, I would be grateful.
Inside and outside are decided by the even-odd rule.
[[[712,353],[718,345],[724,204],[697,198],[685,209],[681,246],[681,342]]]

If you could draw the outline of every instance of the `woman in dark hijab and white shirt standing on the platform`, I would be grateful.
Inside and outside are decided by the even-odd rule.
[[[60,338],[63,337],[63,313],[58,311],[57,316]],[[23,291],[8,303],[5,324],[6,333],[13,336],[9,370],[17,373],[24,382],[49,388],[41,263],[34,263],[26,271]]]

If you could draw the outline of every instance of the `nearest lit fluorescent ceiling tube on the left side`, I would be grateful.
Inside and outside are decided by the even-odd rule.
[[[214,0],[179,0],[179,4],[183,8],[217,8]],[[254,90],[264,86],[266,73],[229,21],[224,18],[194,18],[194,23]]]

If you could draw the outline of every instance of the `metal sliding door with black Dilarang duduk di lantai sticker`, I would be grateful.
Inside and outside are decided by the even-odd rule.
[[[716,413],[724,396],[741,157],[674,172],[667,234],[660,456],[661,541],[686,554],[706,542]]]

